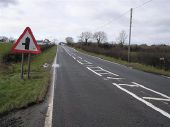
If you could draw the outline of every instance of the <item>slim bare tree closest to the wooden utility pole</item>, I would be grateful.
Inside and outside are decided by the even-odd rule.
[[[126,42],[126,39],[127,39],[127,34],[124,30],[122,30],[120,33],[119,33],[119,36],[116,38],[116,40],[118,41],[118,43],[123,46]]]

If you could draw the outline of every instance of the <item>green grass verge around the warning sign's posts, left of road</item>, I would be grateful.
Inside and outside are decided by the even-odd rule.
[[[43,68],[44,63],[52,64],[56,46],[32,57],[31,79],[20,79],[20,63],[7,66],[6,72],[0,72],[0,113],[27,107],[44,99],[50,83],[50,68]],[[6,65],[4,65],[6,66]],[[25,61],[24,70],[27,69]],[[26,72],[26,71],[25,71]]]

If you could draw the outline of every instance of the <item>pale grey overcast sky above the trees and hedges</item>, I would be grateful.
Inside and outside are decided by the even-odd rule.
[[[148,0],[0,0],[0,35],[18,38],[26,26],[36,39],[75,40],[83,31],[105,31],[115,41],[129,31],[130,8]],[[134,9],[132,42],[170,44],[170,0]],[[124,14],[127,12],[126,14]],[[121,18],[120,16],[124,14]]]

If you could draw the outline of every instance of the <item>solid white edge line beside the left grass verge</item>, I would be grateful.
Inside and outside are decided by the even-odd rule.
[[[57,54],[58,54],[58,46],[57,46],[57,53],[54,59],[54,65],[57,64]],[[54,85],[55,85],[55,80],[56,80],[56,67],[53,67],[53,79],[52,79],[52,88],[51,88],[51,94],[49,95],[49,104],[48,104],[48,109],[46,113],[46,118],[45,118],[45,124],[44,127],[52,127],[52,116],[53,116],[53,99],[54,99]]]

